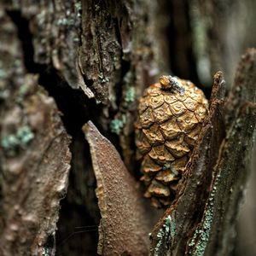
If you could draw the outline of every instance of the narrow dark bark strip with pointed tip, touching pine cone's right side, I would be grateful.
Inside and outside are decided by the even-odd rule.
[[[209,115],[204,121],[201,136],[178,187],[177,200],[166,210],[164,217],[152,232],[151,255],[184,255],[191,230],[194,230],[200,221],[207,200],[207,190],[212,181],[211,170],[218,158],[218,148],[224,137],[222,73],[216,73],[214,76],[213,95],[209,102]],[[172,236],[160,232],[169,216],[172,219],[169,230],[173,230],[175,225],[175,234]]]

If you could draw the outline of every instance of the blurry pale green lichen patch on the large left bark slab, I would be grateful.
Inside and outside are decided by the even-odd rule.
[[[1,140],[1,147],[8,156],[15,156],[19,148],[26,148],[32,141],[33,132],[27,125],[21,126],[15,133],[11,133]]]

